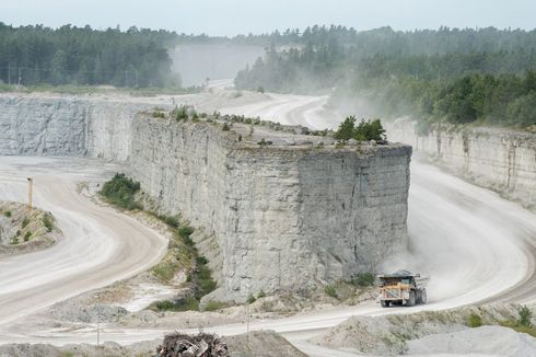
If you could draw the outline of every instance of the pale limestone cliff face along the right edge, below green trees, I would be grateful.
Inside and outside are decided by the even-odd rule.
[[[535,134],[442,125],[419,135],[416,122],[399,119],[389,128],[389,138],[431,154],[477,184],[536,208]]]

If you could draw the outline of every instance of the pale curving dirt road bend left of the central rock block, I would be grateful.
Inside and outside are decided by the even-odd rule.
[[[167,242],[159,233],[77,192],[79,181],[102,181],[104,166],[79,159],[1,158],[0,199],[25,201],[25,177],[32,176],[34,204],[53,212],[65,239],[43,252],[0,257],[0,325],[133,276],[165,253]]]

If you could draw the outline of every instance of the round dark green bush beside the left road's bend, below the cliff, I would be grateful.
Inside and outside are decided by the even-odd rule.
[[[139,182],[127,178],[124,173],[116,173],[110,181],[103,185],[101,194],[110,204],[130,210],[141,208],[135,198],[136,193],[139,191]]]

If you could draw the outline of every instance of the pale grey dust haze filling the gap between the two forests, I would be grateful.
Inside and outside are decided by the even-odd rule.
[[[200,85],[207,78],[235,78],[264,54],[261,46],[238,44],[185,44],[170,50],[173,70],[180,74],[185,87]]]

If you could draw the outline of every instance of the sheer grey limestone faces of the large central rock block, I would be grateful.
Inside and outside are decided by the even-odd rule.
[[[410,148],[260,147],[206,123],[137,116],[131,170],[170,212],[215,234],[218,299],[373,270],[407,246]]]

